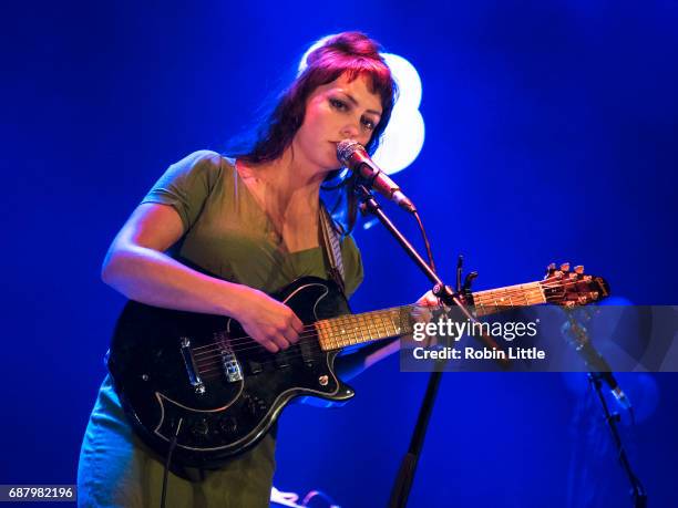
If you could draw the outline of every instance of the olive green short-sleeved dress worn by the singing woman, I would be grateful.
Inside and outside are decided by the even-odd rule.
[[[321,248],[288,252],[280,235],[240,179],[233,159],[209,151],[172,165],[142,203],[172,206],[185,235],[170,255],[223,279],[267,293],[302,276],[327,277]],[[346,292],[362,281],[360,252],[341,242]],[[157,507],[163,458],[133,433],[106,376],[92,411],[78,468],[79,506]],[[170,474],[168,507],[267,507],[275,471],[275,437],[218,470]]]

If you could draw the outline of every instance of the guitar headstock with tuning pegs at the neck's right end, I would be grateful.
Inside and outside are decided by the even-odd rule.
[[[569,263],[556,268],[551,263],[541,282],[547,303],[575,307],[586,305],[609,297],[609,284],[602,277],[584,274],[584,267],[569,269]]]

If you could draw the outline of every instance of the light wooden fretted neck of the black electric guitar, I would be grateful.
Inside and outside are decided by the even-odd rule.
[[[473,293],[473,307],[479,317],[513,307],[530,307],[546,302],[541,282],[507,286]],[[320,348],[333,351],[413,332],[411,313],[417,305],[347,314],[317,321]]]

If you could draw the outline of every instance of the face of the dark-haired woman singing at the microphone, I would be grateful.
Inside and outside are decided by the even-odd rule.
[[[318,86],[306,102],[304,123],[292,145],[295,153],[318,167],[330,172],[341,166],[337,160],[337,144],[355,139],[367,145],[381,118],[381,97],[370,91],[370,81],[358,76],[349,82],[346,74]]]

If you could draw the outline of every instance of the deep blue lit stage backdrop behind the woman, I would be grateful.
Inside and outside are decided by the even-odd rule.
[[[476,289],[571,261],[630,302],[677,303],[674,2],[31,2],[3,18],[0,484],[75,481],[124,303],[99,278],[110,241],[170,164],[222,149],[328,33],[362,30],[422,77],[425,143],[397,178],[444,277],[458,253]],[[355,310],[428,289],[380,227],[356,238]],[[391,357],[346,407],[289,408],[276,486],[383,506],[427,379]],[[631,463],[669,506],[678,379],[619,379]],[[445,374],[410,506],[629,506],[627,490],[583,375]]]

